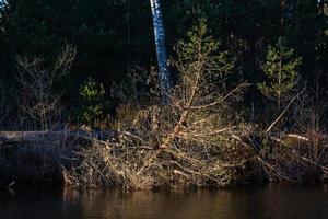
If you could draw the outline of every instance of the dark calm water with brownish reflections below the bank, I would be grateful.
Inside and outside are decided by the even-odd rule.
[[[328,219],[328,186],[79,194],[62,188],[0,193],[0,219]]]

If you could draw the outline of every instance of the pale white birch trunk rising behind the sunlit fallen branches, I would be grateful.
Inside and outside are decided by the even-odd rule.
[[[161,85],[162,103],[168,104],[169,89],[172,87],[167,69],[167,55],[165,48],[165,34],[160,0],[150,0],[153,15],[154,36],[159,64],[159,78]]]

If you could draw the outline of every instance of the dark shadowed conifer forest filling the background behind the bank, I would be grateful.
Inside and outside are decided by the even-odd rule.
[[[262,66],[269,45],[294,49],[292,57],[302,59],[295,67],[296,87],[327,89],[325,1],[165,0],[162,4],[168,54],[199,18],[207,19],[210,34],[235,60],[236,74],[230,83],[254,84],[246,93],[246,107],[254,102],[262,105],[257,84],[268,79]],[[104,87],[108,103],[104,114],[119,103],[109,94],[113,84],[127,80],[136,69],[149,71],[156,65],[149,1],[8,0],[0,13],[0,81],[11,108],[17,108],[12,100],[20,95],[19,56],[40,57],[47,64],[66,44],[74,46],[72,69],[54,90],[63,91],[63,103],[71,110],[81,104],[79,89],[92,78]]]

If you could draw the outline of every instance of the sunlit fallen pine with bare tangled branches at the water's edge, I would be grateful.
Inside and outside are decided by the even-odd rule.
[[[224,78],[233,68],[227,54],[219,51],[203,26],[189,36],[189,44],[178,44],[173,61],[180,79],[171,93],[171,103],[132,110],[126,106],[126,116],[131,119],[128,124],[126,119],[118,122],[118,142],[95,141],[80,151],[83,162],[66,171],[67,183],[150,188],[226,186],[237,181],[253,150],[234,136],[247,136],[251,127],[233,119],[230,103],[247,84],[226,91]]]

